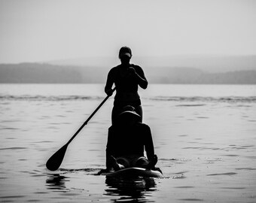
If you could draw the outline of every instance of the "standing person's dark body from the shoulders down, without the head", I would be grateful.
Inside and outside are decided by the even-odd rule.
[[[136,109],[136,113],[142,117],[141,100],[138,94],[138,85],[143,89],[148,86],[148,81],[145,74],[139,65],[130,64],[142,79],[130,74],[128,71],[123,71],[122,65],[117,65],[108,73],[108,79],[105,85],[105,92],[111,89],[113,83],[116,86],[116,95],[114,96],[114,108],[112,111],[112,124],[117,116],[120,114],[123,107],[131,105]],[[144,81],[142,81],[144,80]]]

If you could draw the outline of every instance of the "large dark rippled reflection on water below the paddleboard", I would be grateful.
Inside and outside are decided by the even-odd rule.
[[[105,183],[108,186],[105,195],[116,197],[112,199],[113,202],[154,202],[147,199],[157,189],[152,177],[136,179],[106,177]]]

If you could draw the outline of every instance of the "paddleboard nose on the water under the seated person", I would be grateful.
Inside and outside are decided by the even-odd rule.
[[[124,168],[120,171],[109,171],[102,173],[107,177],[163,177],[160,171],[148,170],[145,168]]]

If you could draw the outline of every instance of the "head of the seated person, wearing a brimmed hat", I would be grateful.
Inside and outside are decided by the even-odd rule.
[[[127,105],[123,108],[122,112],[119,114],[119,117],[117,119],[123,125],[130,126],[134,123],[140,122],[142,117],[136,113],[135,108],[133,108],[133,106]]]

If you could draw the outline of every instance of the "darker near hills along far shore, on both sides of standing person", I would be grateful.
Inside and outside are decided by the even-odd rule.
[[[105,83],[109,67],[0,64],[0,83]],[[145,67],[150,83],[256,84],[256,70],[209,73],[200,68]]]

